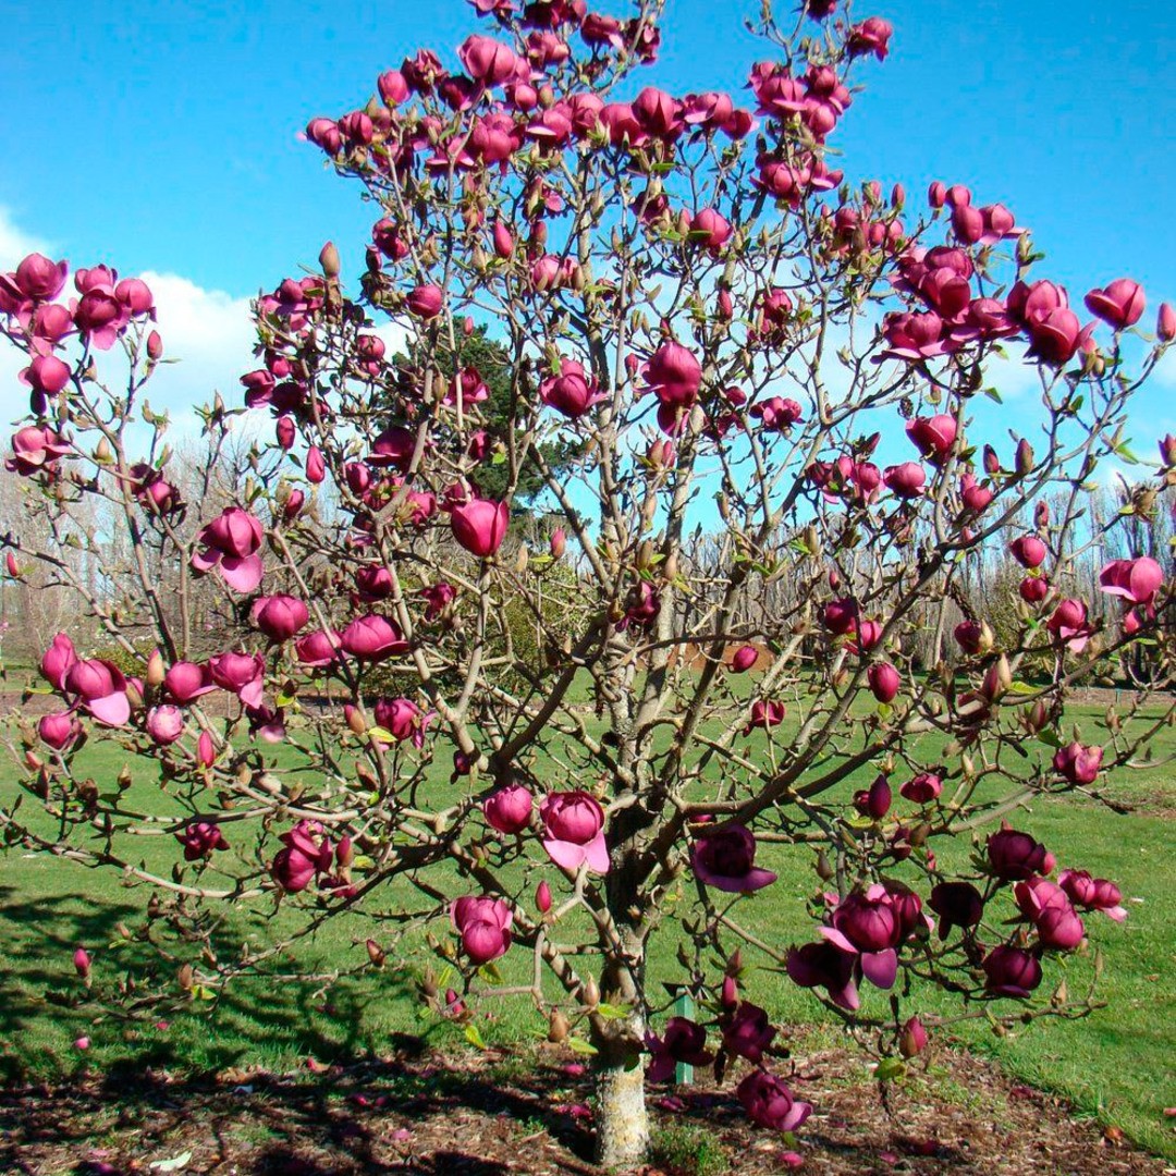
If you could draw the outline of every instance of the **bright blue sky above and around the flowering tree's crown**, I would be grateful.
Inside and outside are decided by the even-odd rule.
[[[669,0],[660,83],[741,83],[761,51],[740,13],[757,7]],[[75,265],[179,275],[169,293],[207,312],[225,347],[241,341],[229,325],[241,299],[313,261],[328,238],[352,242],[353,263],[366,239],[356,188],[296,139],[307,119],[361,105],[416,46],[452,62],[475,22],[463,0],[7,8],[0,239],[51,245]],[[889,18],[896,33],[836,132],[847,174],[900,180],[920,206],[936,178],[1003,201],[1049,255],[1042,275],[1077,298],[1123,274],[1142,281],[1150,329],[1158,301],[1176,301],[1176,7],[877,0],[854,11]],[[189,353],[200,346],[191,327]]]

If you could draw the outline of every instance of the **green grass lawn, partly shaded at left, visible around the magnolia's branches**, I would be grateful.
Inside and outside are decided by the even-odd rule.
[[[1081,720],[1083,714],[1076,709],[1071,716]],[[1176,739],[1169,735],[1167,740],[1167,747],[1157,747],[1161,756],[1176,748]],[[111,744],[98,744],[85,754],[91,760],[87,770],[100,784],[103,777],[113,779],[123,763],[122,753]],[[143,761],[131,768],[136,803],[159,797],[153,766]],[[871,776],[871,771],[863,771],[847,791],[868,783]],[[9,775],[0,782],[0,802],[7,803],[16,790]],[[1102,915],[1085,920],[1091,942],[1104,956],[1098,995],[1108,1007],[1080,1021],[1038,1021],[1003,1037],[994,1036],[983,1021],[963,1022],[957,1034],[970,1048],[996,1057],[1009,1073],[1065,1095],[1080,1110],[1098,1115],[1145,1147],[1176,1158],[1171,1121],[1164,1116],[1164,1108],[1176,1104],[1176,927],[1171,914],[1176,782],[1164,766],[1112,781],[1111,790],[1129,802],[1142,802],[1140,809],[1116,815],[1070,796],[1041,801],[1031,813],[1016,815],[1016,823],[1043,841],[1063,867],[1115,878],[1123,889],[1130,911],[1125,924],[1111,923]],[[937,853],[950,863],[953,855],[965,855],[969,849],[956,844],[937,847]],[[142,857],[166,871],[175,861],[176,848],[171,838],[151,838]],[[741,911],[741,917],[780,947],[810,938],[813,922],[804,908],[817,887],[811,854],[763,847],[761,857],[763,864],[779,870],[780,881],[749,900],[753,908]],[[903,876],[901,869],[896,876]],[[405,968],[365,970],[328,983],[295,978],[290,962],[288,969],[279,967],[274,975],[235,982],[216,1001],[192,1001],[129,1018],[118,1016],[101,1001],[103,990],[128,974],[141,977],[154,958],[140,944],[127,943],[119,931],[120,922],[141,924],[148,894],[145,887],[123,886],[109,871],[87,870],[20,849],[0,856],[0,1061],[11,1078],[54,1080],[82,1067],[109,1071],[153,1065],[199,1074],[255,1064],[289,1070],[305,1064],[308,1055],[329,1062],[365,1051],[386,1053],[393,1034],[419,1034],[437,1042],[459,1036],[453,1027],[422,1016],[412,973],[435,960],[423,943],[423,931],[403,944],[399,962]],[[302,944],[298,967],[323,974],[355,968],[366,958],[365,938],[381,937],[380,910],[395,909],[403,897],[396,887],[389,887],[369,914],[333,921],[313,943]],[[235,909],[225,934],[265,943],[275,930],[294,926],[298,916],[290,908],[287,902],[275,914],[273,900],[267,898]],[[435,933],[445,937],[448,929],[439,927]],[[79,946],[94,957],[95,984],[89,1001],[78,1000],[82,989],[72,956]],[[675,948],[671,938],[663,936],[659,942],[652,965],[656,975],[681,975],[674,962]],[[508,955],[506,971],[509,975],[521,964]],[[1067,962],[1071,993],[1084,990],[1093,965],[1093,954]],[[1053,962],[1048,969],[1047,985],[1057,975],[1058,964]],[[784,1021],[811,1023],[823,1016],[810,994],[779,973],[757,971],[749,995]],[[868,1007],[884,1007],[884,996],[868,985],[863,996]],[[937,993],[916,993],[913,1008],[953,1013],[960,1004]],[[479,1023],[487,1041],[516,1041],[539,1028],[521,1004],[490,1002],[486,1011],[487,1020]],[[92,1042],[86,1054],[73,1047],[81,1035]]]

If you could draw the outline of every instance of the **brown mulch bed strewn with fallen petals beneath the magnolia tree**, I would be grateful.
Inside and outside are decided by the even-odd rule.
[[[800,1131],[801,1171],[870,1174],[1163,1174],[1114,1128],[1073,1117],[994,1065],[930,1050],[887,1105],[858,1056],[822,1050],[780,1063],[815,1112]],[[203,1083],[166,1073],[91,1075],[68,1088],[0,1093],[0,1171],[267,1176],[601,1176],[590,1163],[590,1088],[570,1054],[494,1050],[298,1075],[228,1071]],[[782,1137],[751,1127],[733,1096],[703,1082],[650,1091],[655,1138],[679,1155],[721,1151],[730,1172],[794,1170]],[[669,1132],[667,1136],[664,1132]],[[660,1136],[657,1132],[662,1132]],[[688,1132],[695,1132],[691,1137]],[[682,1148],[682,1138],[687,1147]],[[186,1155],[187,1154],[187,1155]],[[660,1163],[664,1164],[662,1160]],[[717,1169],[704,1169],[708,1174]],[[643,1176],[695,1176],[653,1163]]]

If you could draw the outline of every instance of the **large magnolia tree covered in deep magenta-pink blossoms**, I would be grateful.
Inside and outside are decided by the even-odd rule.
[[[352,915],[374,930],[341,971],[415,943],[437,1015],[529,1001],[592,1055],[600,1158],[622,1167],[644,1083],[677,1063],[729,1075],[764,1128],[804,1122],[747,998],[756,963],[842,1017],[883,1081],[949,1020],[920,1008],[933,987],[996,1027],[1088,1009],[1065,957],[1114,934],[1120,891],[997,822],[1101,795],[1167,721],[1129,700],[1080,731],[1065,703],[1129,646],[1170,680],[1161,563],[1115,560],[1088,599],[1075,569],[1176,481],[1165,437],[1124,514],[1085,509],[1098,463],[1132,460],[1131,397],[1176,314],[1142,333],[1125,278],[1084,314],[961,185],[911,209],[834,171],[880,18],[764,0],[749,87],[671,94],[641,76],[657,0],[474,7],[455,58],[421,49],[307,127],[362,186],[372,242],[356,280],[328,245],[258,299],[247,408],[201,413],[208,469],[242,419],[259,437],[273,419],[235,503],[169,474],[142,281],[40,255],[0,276],[31,389],[7,465],[47,536],[14,524],[8,574],[40,566],[108,635],[45,652],[56,709],[9,733],[52,821],[26,797],[8,843],[148,884],[161,996],[176,969],[214,995]],[[506,365],[493,427],[472,335]],[[1005,353],[1038,413],[984,443]],[[524,479],[546,512],[527,542]],[[1015,616],[997,643],[960,583],[1010,527],[1024,575],[1014,609],[984,601]],[[198,588],[242,634],[205,660]],[[158,803],[85,775],[95,740],[153,766]],[[174,868],[145,864],[149,836]],[[780,942],[763,862],[797,853],[811,934]],[[226,947],[226,904],[275,900],[294,930]],[[666,1023],[667,989],[696,1014]]]

